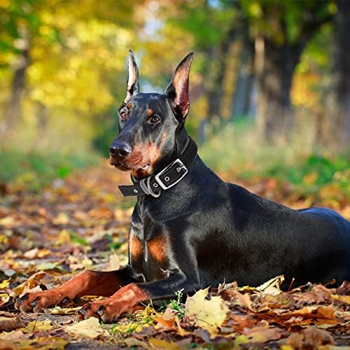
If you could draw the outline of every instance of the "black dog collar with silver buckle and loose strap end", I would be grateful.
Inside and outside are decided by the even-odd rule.
[[[197,144],[188,137],[187,146],[180,157],[162,169],[157,175],[148,176],[146,179],[134,183],[131,186],[118,186],[124,197],[151,195],[159,197],[162,190],[172,188],[188,173],[188,167],[197,155]]]

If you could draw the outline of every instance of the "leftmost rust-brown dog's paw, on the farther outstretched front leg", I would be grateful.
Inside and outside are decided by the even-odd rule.
[[[36,293],[27,293],[15,302],[15,308],[24,312],[37,312],[48,307],[64,305],[70,302],[69,297],[62,295],[58,290],[43,290]]]

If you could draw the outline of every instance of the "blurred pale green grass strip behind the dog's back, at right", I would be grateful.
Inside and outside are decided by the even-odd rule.
[[[261,146],[251,130],[247,119],[228,124],[200,147],[200,155],[231,178],[274,178],[305,194],[332,183],[349,193],[350,149],[334,155],[314,146],[304,134],[292,136],[285,146]]]

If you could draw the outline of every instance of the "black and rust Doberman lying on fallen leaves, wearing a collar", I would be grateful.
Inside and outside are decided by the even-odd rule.
[[[130,51],[127,94],[110,163],[131,171],[124,195],[136,195],[129,263],[113,272],[87,270],[62,286],[24,295],[21,311],[102,295],[80,318],[105,323],[139,302],[193,293],[223,281],[258,286],[283,274],[288,286],[350,280],[350,223],[325,208],[293,210],[225,183],[197,155],[185,129],[193,53],[177,66],[164,94],[139,92]]]

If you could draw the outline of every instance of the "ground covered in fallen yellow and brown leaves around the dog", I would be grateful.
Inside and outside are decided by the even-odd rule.
[[[349,283],[290,286],[284,293],[278,288],[281,276],[260,288],[223,284],[187,300],[179,291],[168,304],[141,306],[114,325],[95,318],[75,321],[76,307],[96,297],[40,314],[15,311],[14,298],[28,290],[52,288],[85,268],[117,269],[127,262],[133,202],[117,185],[128,181],[128,174],[102,163],[54,181],[40,193],[1,187],[0,349],[287,350],[350,344]],[[326,204],[350,216],[348,199],[331,186],[318,197],[295,194],[274,179],[244,186],[295,208]]]

